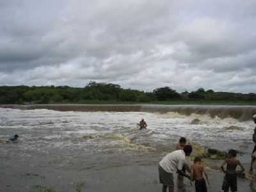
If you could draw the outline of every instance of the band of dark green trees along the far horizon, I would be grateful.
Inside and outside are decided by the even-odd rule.
[[[199,88],[178,93],[165,86],[153,92],[121,88],[118,84],[90,82],[84,88],[70,86],[0,86],[0,104],[61,103],[241,103],[256,104],[255,93],[214,92]]]

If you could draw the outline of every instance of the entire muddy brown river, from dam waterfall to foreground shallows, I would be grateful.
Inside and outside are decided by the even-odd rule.
[[[16,132],[22,137],[0,144],[0,191],[161,191],[157,164],[179,136],[237,148],[248,171],[253,113],[254,106],[4,106],[0,139]],[[154,132],[137,130],[141,117]],[[194,118],[202,124],[191,125]],[[224,129],[230,125],[243,129]],[[211,163],[218,168],[221,161]],[[209,177],[209,191],[221,191],[220,170],[209,171]],[[238,179],[239,191],[255,186]],[[186,189],[195,191],[188,180]]]

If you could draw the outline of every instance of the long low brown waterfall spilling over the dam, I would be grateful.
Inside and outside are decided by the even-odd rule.
[[[0,108],[11,109],[50,109],[55,111],[117,111],[117,112],[175,112],[181,115],[209,115],[212,118],[236,118],[240,121],[251,120],[256,113],[256,106],[226,106],[226,105],[157,105],[157,104],[29,104],[0,105]]]

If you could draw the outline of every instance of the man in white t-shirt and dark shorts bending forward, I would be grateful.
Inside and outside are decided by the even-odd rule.
[[[182,167],[186,163],[186,156],[190,156],[191,152],[191,145],[185,145],[183,150],[175,150],[160,161],[158,170],[160,183],[163,184],[163,192],[166,192],[167,188],[169,188],[169,192],[174,191],[173,174],[175,173],[190,179],[189,175],[182,171]]]

